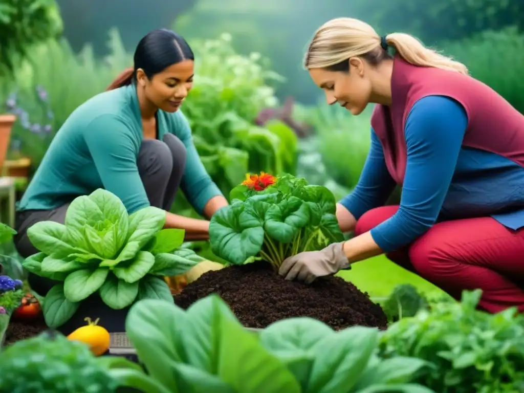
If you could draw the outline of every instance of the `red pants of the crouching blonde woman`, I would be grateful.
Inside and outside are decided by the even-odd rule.
[[[386,221],[397,209],[382,206],[366,212],[355,235]],[[457,300],[463,290],[479,288],[479,308],[495,313],[517,306],[524,312],[524,229],[511,231],[491,217],[446,221],[386,256]]]

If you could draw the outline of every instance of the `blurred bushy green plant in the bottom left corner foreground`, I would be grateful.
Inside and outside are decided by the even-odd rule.
[[[0,386],[13,393],[111,393],[120,391],[118,387],[166,393],[137,364],[121,357],[94,357],[86,344],[54,332],[5,348],[0,355]]]

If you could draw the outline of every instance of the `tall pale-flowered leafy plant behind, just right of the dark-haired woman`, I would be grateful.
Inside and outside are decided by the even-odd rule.
[[[254,121],[278,101],[269,83],[281,77],[259,53],[238,54],[231,36],[191,42],[195,81],[184,103],[201,160],[224,194],[248,171],[296,170],[297,136],[282,122],[264,127]]]

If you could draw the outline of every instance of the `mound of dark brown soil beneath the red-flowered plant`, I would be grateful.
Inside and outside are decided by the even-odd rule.
[[[306,285],[286,281],[266,262],[209,271],[174,297],[187,309],[195,301],[217,293],[247,328],[295,316],[309,316],[335,330],[361,325],[386,329],[387,318],[366,293],[340,277],[323,277]]]

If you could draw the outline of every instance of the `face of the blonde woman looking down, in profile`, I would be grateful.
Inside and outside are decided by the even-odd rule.
[[[313,82],[326,95],[329,105],[339,103],[353,115],[359,115],[369,103],[371,83],[366,75],[366,63],[360,58],[351,58],[349,72],[328,71],[312,68],[309,74]]]

